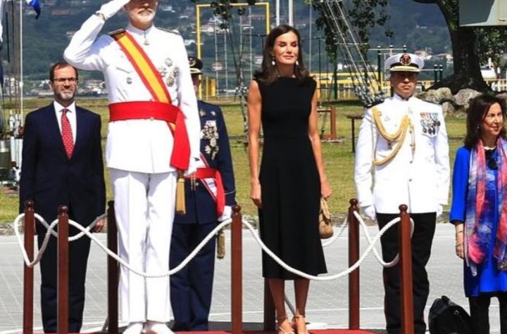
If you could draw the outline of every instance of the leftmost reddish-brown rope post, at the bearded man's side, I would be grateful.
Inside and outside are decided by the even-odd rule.
[[[32,200],[25,202],[25,250],[30,262],[34,258],[35,218]],[[33,333],[33,268],[23,268],[23,334]]]

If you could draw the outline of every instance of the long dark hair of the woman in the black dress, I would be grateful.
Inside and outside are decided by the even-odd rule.
[[[290,25],[279,25],[278,27],[273,28],[273,30],[271,30],[268,34],[264,44],[262,68],[253,75],[253,77],[261,80],[261,82],[264,82],[265,84],[273,84],[278,77],[277,67],[271,63],[271,51],[275,46],[276,39],[282,34],[287,34],[287,32],[294,32],[298,39],[299,53],[297,62],[299,65],[294,65],[294,75],[296,75],[296,78],[299,79],[299,82],[306,82],[306,80],[310,78],[308,70],[306,70],[303,63],[303,47],[301,45],[301,36],[299,35],[299,31]]]

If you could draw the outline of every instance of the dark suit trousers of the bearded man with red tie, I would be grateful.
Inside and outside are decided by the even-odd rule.
[[[39,249],[44,240],[44,231],[37,233]],[[77,233],[77,229],[69,226],[69,234]],[[90,239],[83,236],[69,243],[69,309],[68,329],[69,333],[79,333],[82,326],[82,314],[84,310],[84,281],[88,264]],[[58,243],[54,236],[49,238],[46,251],[41,258],[41,311],[42,326],[44,333],[56,333],[57,320],[57,282],[58,282]]]

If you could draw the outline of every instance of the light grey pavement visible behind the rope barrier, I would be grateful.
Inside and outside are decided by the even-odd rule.
[[[375,236],[377,228],[368,228]],[[335,229],[337,231],[337,229]],[[230,252],[229,233],[226,231],[226,256],[217,260],[210,321],[214,328],[226,329],[230,322]],[[99,239],[106,240],[105,234]],[[361,236],[361,253],[368,244]],[[248,230],[243,231],[243,321],[252,328],[261,329],[263,321],[263,278],[261,278],[261,250]],[[0,236],[0,334],[21,333],[23,324],[23,258],[14,236]],[[329,274],[338,274],[347,268],[346,232],[325,248]],[[431,284],[427,311],[432,301],[447,295],[465,309],[468,301],[463,293],[462,261],[454,255],[454,228],[450,224],[437,224],[432,257],[427,266]],[[107,314],[106,256],[92,243],[87,273],[87,296],[82,332],[101,328]],[[361,328],[384,328],[382,267],[373,252],[361,264]],[[34,326],[42,332],[39,307],[39,269],[35,270]],[[287,295],[294,300],[292,284]],[[347,328],[348,326],[347,277],[333,281],[311,283],[306,318],[310,328]],[[499,307],[492,300],[490,307],[491,333],[500,333]],[[120,322],[120,325],[122,323]],[[252,325],[253,324],[253,325]],[[213,327],[212,327],[213,328]],[[382,332],[380,332],[382,333]]]

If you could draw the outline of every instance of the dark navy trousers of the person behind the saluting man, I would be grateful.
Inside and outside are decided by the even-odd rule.
[[[216,226],[216,222],[173,224],[170,269],[180,264]],[[211,238],[187,266],[170,276],[174,331],[208,330],[215,270],[215,242],[216,239]]]

